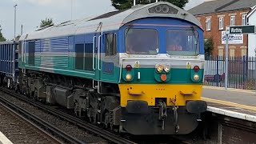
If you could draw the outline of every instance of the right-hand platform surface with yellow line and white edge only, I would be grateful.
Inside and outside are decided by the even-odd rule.
[[[202,100],[208,111],[256,122],[256,92],[203,86]]]

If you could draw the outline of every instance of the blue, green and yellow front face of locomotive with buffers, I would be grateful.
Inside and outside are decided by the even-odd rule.
[[[141,18],[122,26],[120,106],[130,134],[189,134],[201,101],[203,31],[179,18]]]

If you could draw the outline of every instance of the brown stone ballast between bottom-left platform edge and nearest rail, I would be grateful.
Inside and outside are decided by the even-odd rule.
[[[57,138],[54,138],[21,114],[6,106],[6,102],[0,102],[0,115],[0,128],[4,133],[8,134],[14,143],[61,143]]]

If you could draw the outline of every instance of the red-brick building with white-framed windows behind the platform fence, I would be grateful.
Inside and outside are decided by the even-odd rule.
[[[246,15],[256,0],[207,0],[188,10],[202,23],[205,39],[214,40],[212,55],[225,56],[226,26],[243,26],[247,24]],[[229,56],[247,55],[248,36],[230,34]]]

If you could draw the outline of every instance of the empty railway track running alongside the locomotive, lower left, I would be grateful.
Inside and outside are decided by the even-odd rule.
[[[26,98],[26,96],[23,96],[22,94],[16,94],[14,93],[13,90],[8,90],[2,87],[0,87],[0,90],[5,93],[5,94],[0,94],[1,95],[0,100],[2,102],[5,102],[6,105],[12,107],[12,109],[17,110],[20,114],[26,115],[27,118],[32,119],[34,122],[44,127],[44,129],[48,130],[51,134],[54,134],[55,137],[62,139],[62,141],[65,143],[87,143],[88,141],[86,142],[86,140],[88,139],[90,139],[90,142],[93,142],[94,140],[93,138],[91,138],[92,136],[89,136],[90,138],[89,137],[86,138],[86,135],[90,135],[88,134],[88,130],[90,131],[90,133],[93,133],[94,135],[95,134],[98,135],[98,138],[94,136],[95,140],[99,140],[101,138],[103,140],[104,138],[107,141],[103,140],[103,142],[106,142],[106,143],[107,142],[123,143],[123,144],[134,143],[134,142],[131,142],[130,140],[127,140],[126,138],[122,138],[116,134],[110,133],[107,130],[102,130],[98,126],[94,126],[92,124],[86,123],[79,118],[75,118],[71,116],[70,114],[66,114],[60,110],[54,109],[53,107],[46,106],[41,102],[35,102],[34,100]],[[8,98],[6,94],[9,94],[13,97]],[[13,98],[16,99],[15,101],[20,100],[21,102],[14,102]],[[27,104],[25,104],[25,102],[29,103],[30,106],[26,106]],[[32,112],[34,114],[31,114],[31,111],[25,110],[24,108],[22,108],[22,106],[34,107],[34,109],[45,111],[48,114],[54,115],[54,117],[58,117],[59,119],[62,119],[62,121],[66,121],[66,123],[64,122],[62,123],[62,125],[66,127],[70,126],[70,131],[65,132],[63,131],[63,129],[58,128],[58,126],[54,126],[53,124],[50,124],[49,121],[46,121],[46,119],[50,119],[50,121],[57,121],[56,119],[53,120],[53,118],[50,118],[48,116],[47,117],[45,116],[46,118],[38,117],[38,115],[35,115],[36,113],[39,113],[38,111]],[[79,130],[74,127],[77,127]],[[84,133],[83,135],[85,138],[82,138],[81,135],[78,136],[78,134],[82,134],[81,131],[82,133]]]

